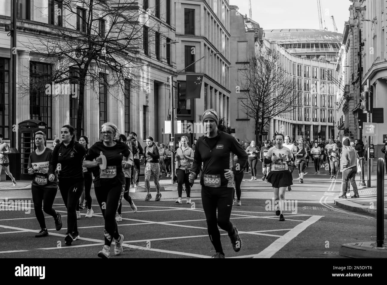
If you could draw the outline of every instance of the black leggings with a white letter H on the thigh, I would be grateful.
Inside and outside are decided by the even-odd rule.
[[[59,191],[67,208],[67,233],[77,233],[77,214],[75,213],[79,198],[84,190],[84,179],[72,180],[62,178],[59,181]],[[67,234],[66,233],[66,234]]]

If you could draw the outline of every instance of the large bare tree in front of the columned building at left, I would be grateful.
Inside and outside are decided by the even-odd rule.
[[[49,13],[50,9],[55,11],[51,13],[54,19],[49,14],[49,24],[54,25],[43,33],[36,33],[29,43],[32,53],[53,63],[50,76],[35,80],[33,88],[44,88],[51,82],[77,84],[76,130],[81,134],[85,87],[91,88],[98,99],[103,83],[113,98],[122,101],[118,91],[124,93],[125,79],[133,79],[134,74],[141,72],[144,64],[140,53],[144,42],[148,46],[152,41],[150,31],[156,25],[151,16],[154,8],[140,7],[134,0],[63,0],[60,3],[49,7]],[[143,86],[142,83],[138,79],[130,81],[132,87]]]

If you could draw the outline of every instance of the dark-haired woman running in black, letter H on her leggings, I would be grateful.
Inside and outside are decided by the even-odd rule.
[[[55,180],[55,171],[59,170],[59,190],[67,208],[67,233],[65,245],[71,246],[73,240],[79,239],[77,227],[77,205],[84,190],[82,160],[86,148],[75,141],[74,127],[64,125],[60,130],[62,143],[58,144],[51,155],[48,167],[48,180]]]

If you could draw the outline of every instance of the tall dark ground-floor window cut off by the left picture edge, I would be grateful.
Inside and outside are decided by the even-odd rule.
[[[0,57],[0,132],[9,139],[9,59]]]

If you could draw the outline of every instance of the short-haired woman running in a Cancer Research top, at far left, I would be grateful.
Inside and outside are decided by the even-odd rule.
[[[48,181],[47,179],[48,165],[50,163],[52,151],[51,149],[46,148],[45,143],[46,134],[42,131],[36,132],[36,150],[31,153],[28,158],[28,174],[33,175],[31,183],[32,200],[34,202],[35,215],[41,228],[41,231],[35,235],[35,237],[48,236],[43,211],[54,218],[56,230],[62,228],[60,213],[57,213],[52,208],[55,196],[58,192],[58,179],[56,177],[53,181]]]

